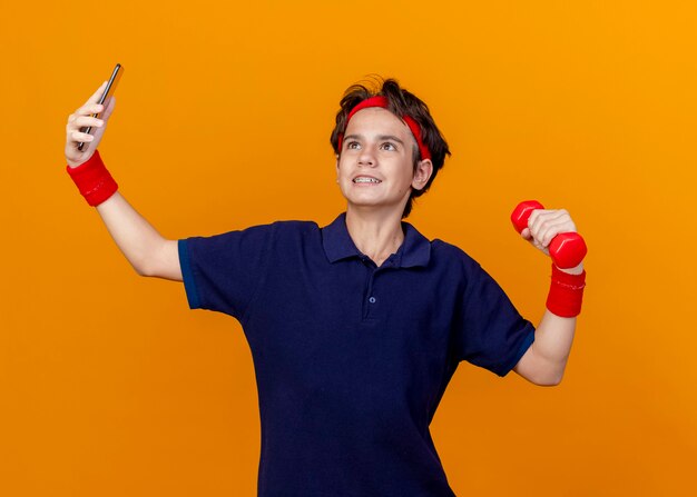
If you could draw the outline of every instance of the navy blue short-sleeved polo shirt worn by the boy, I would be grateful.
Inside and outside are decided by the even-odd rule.
[[[263,497],[452,496],[429,425],[458,364],[503,376],[534,328],[465,252],[403,222],[384,264],[341,215],[179,241],[189,307],[239,320]]]

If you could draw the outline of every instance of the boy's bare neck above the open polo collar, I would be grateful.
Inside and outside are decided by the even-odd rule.
[[[381,266],[404,241],[401,211],[346,209],[346,228],[356,248]]]

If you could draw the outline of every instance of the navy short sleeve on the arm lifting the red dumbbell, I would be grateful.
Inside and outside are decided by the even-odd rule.
[[[460,360],[505,376],[534,341],[534,326],[477,262],[469,265],[460,314]]]

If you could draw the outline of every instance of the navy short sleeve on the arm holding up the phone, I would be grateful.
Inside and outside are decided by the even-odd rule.
[[[274,226],[256,226],[178,241],[179,264],[192,309],[242,319],[266,274]]]

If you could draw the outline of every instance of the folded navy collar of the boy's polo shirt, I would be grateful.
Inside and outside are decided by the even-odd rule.
[[[409,222],[402,221],[404,241],[396,251],[395,266],[402,268],[428,266],[431,242]],[[322,228],[322,245],[330,262],[351,257],[364,257],[356,248],[346,228],[346,212],[338,215],[331,225]]]

